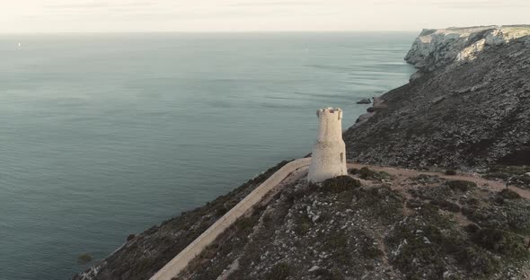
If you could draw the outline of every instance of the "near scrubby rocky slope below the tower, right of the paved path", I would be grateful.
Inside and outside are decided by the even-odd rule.
[[[177,279],[528,279],[530,202],[432,175],[298,181]]]

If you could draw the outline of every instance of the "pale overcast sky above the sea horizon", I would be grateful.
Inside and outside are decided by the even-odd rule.
[[[530,23],[530,0],[0,0],[0,33],[420,31]]]

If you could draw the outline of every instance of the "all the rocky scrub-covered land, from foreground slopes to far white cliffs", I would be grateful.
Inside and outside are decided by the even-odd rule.
[[[176,279],[529,279],[529,31],[422,31],[419,72],[345,132],[349,175],[286,182]],[[285,164],[73,279],[148,279]]]

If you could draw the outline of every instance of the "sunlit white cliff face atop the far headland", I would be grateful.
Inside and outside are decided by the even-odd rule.
[[[530,25],[423,30],[405,60],[420,72],[473,60],[484,48],[530,35]],[[419,76],[414,74],[412,78]]]

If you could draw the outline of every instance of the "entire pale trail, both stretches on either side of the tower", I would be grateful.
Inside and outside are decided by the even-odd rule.
[[[204,249],[208,247],[211,243],[216,241],[216,238],[230,226],[232,226],[240,217],[245,214],[252,212],[254,206],[260,203],[262,200],[267,201],[272,196],[268,196],[272,190],[276,188],[276,191],[279,191],[280,188],[283,188],[290,183],[294,182],[296,179],[300,179],[305,171],[309,169],[309,164],[311,163],[311,158],[298,159],[293,162],[288,162],[281,169],[276,171],[269,179],[265,180],[261,185],[254,189],[247,197],[244,197],[237,205],[234,206],[230,211],[228,211],[223,217],[212,224],[208,230],[203,232],[199,237],[190,243],[188,247],[183,249],[175,258],[172,258],[162,269],[160,269],[155,276],[152,276],[150,280],[171,280],[173,277],[178,276],[181,271],[188,266],[191,260],[196,258]],[[427,175],[436,175],[443,179],[464,179],[475,182],[479,186],[485,186],[492,190],[500,190],[506,188],[504,183],[483,179],[475,174],[461,173],[454,176],[445,175],[441,172],[424,172],[424,171],[414,171],[408,169],[399,169],[393,167],[380,167],[380,166],[371,166],[358,163],[348,163],[348,168],[363,168],[367,167],[374,171],[384,171],[393,176],[401,178],[411,178],[416,177],[420,174]],[[278,187],[278,188],[277,188]],[[521,197],[530,199],[530,191],[517,187],[510,187],[511,190],[517,192]]]

